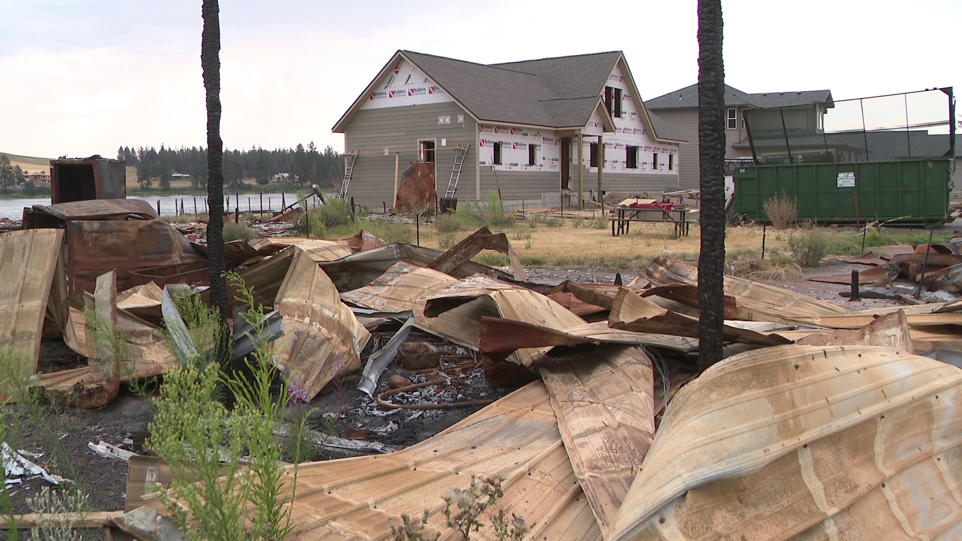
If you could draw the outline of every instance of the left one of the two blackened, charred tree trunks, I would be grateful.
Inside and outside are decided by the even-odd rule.
[[[224,278],[224,173],[220,141],[220,20],[217,0],[204,0],[204,33],[200,64],[207,90],[207,257],[210,260],[211,304],[227,324],[227,281]]]

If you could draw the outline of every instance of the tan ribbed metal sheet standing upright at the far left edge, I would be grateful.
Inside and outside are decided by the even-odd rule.
[[[31,372],[37,370],[44,315],[62,261],[62,246],[63,231],[59,229],[0,234],[0,309],[4,311],[0,348],[13,347],[30,355],[34,362]],[[63,289],[63,284],[58,287]]]

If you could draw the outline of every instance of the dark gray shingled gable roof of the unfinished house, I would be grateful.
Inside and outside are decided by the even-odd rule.
[[[385,64],[334,125],[333,131],[343,131],[385,70],[399,59],[416,65],[478,122],[576,129],[587,124],[598,112],[605,131],[615,129],[601,94],[615,65],[623,60],[620,51],[505,64],[476,64],[402,50]],[[630,78],[629,84],[633,86]],[[638,95],[637,89],[635,94]],[[654,126],[652,131],[656,137],[662,133]]]

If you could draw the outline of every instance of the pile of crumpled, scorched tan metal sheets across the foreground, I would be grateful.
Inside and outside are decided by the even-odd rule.
[[[36,351],[61,329],[91,357],[88,306],[124,329],[133,366],[107,374],[91,361],[38,384],[81,384],[93,401],[114,380],[175,368],[157,322],[177,288],[118,294],[117,267],[68,297],[63,238],[59,228],[0,236],[0,300],[16,311],[0,345]],[[510,272],[471,262],[483,248],[507,253]],[[435,516],[447,488],[494,473],[499,504],[528,518],[533,539],[962,532],[962,370],[949,364],[962,357],[962,302],[856,311],[726,276],[725,358],[698,374],[697,271],[685,263],[658,258],[628,286],[533,284],[507,238],[487,230],[443,254],[364,234],[228,250],[275,311],[277,367],[311,397],[359,371],[358,407],[370,414],[486,404],[399,451],[301,464],[289,539],[386,539],[400,515]],[[398,365],[420,372],[388,381]],[[112,528],[183,538],[163,526],[156,494],[142,502]],[[428,537],[455,539],[442,522]],[[496,534],[486,525],[472,538]]]

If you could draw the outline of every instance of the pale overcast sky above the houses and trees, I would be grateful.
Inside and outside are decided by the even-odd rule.
[[[206,144],[200,0],[0,0],[0,151]],[[723,1],[725,82],[837,99],[962,92],[959,0]],[[343,149],[331,127],[397,49],[483,64],[624,51],[650,99],[696,83],[694,0],[221,0],[227,148]]]

